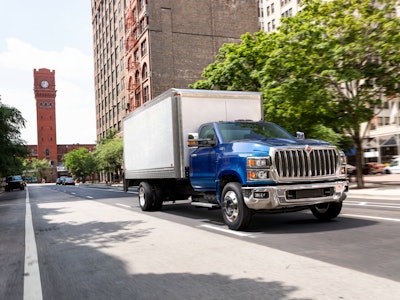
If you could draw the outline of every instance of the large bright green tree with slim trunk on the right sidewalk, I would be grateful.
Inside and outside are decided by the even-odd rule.
[[[281,48],[265,67],[266,90],[275,99],[271,103],[277,103],[277,95],[292,88],[294,78],[295,86],[307,91],[301,105],[315,103],[331,126],[352,137],[357,170],[361,170],[361,124],[373,119],[374,108],[381,105],[383,97],[399,93],[400,20],[396,7],[400,3],[310,0],[305,4],[300,14],[283,21]],[[283,72],[276,62],[285,63]],[[284,76],[276,76],[279,71]],[[287,94],[290,91],[284,92]],[[361,171],[357,184],[364,186]]]

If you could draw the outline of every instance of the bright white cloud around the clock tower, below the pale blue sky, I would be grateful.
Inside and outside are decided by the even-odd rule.
[[[0,52],[0,95],[27,120],[22,138],[37,143],[33,70],[47,68],[55,70],[57,143],[95,143],[93,58],[74,48],[43,51],[15,38],[6,45]]]

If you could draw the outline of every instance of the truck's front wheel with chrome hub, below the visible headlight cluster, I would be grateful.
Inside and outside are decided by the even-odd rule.
[[[250,224],[252,211],[244,203],[240,183],[225,185],[221,195],[221,210],[229,229],[243,230]]]

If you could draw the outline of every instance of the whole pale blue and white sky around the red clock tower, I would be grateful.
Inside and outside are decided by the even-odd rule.
[[[37,144],[33,70],[55,71],[57,144],[96,143],[90,0],[0,0],[0,98]]]

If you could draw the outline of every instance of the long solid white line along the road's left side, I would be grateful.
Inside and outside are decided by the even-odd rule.
[[[42,300],[39,261],[33,230],[29,191],[26,188],[24,299]]]

